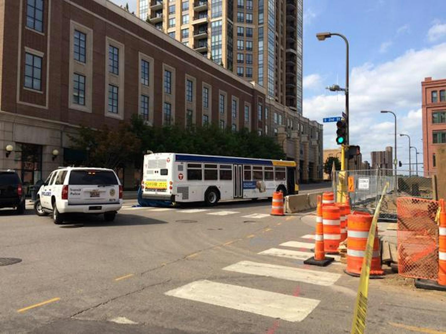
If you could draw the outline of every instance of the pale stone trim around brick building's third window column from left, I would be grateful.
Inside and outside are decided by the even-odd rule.
[[[108,61],[108,49],[109,46],[114,46],[118,48],[118,57],[119,57],[119,64],[118,64],[118,73],[119,74],[113,74],[109,72],[109,61]],[[118,87],[118,113],[110,113],[108,112],[108,94],[105,94],[104,97],[104,114],[105,117],[110,118],[116,118],[116,119],[124,119],[124,77],[125,77],[125,47],[123,43],[120,43],[119,41],[116,41],[112,39],[111,37],[105,36],[105,92],[108,92],[108,85],[113,85]],[[137,76],[138,80],[140,78],[140,75],[138,73]]]

